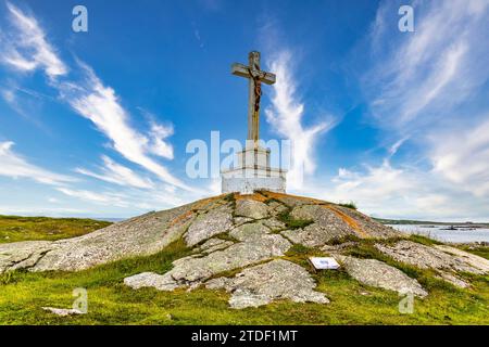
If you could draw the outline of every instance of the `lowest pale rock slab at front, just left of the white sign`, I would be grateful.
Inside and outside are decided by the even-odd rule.
[[[244,269],[233,279],[211,280],[205,285],[208,288],[231,292],[229,305],[237,309],[258,307],[278,299],[329,303],[324,294],[313,291],[316,285],[304,268],[283,259]]]

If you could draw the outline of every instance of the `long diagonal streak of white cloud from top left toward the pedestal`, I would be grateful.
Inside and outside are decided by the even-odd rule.
[[[93,69],[79,60],[76,62],[83,74],[82,80],[68,79],[68,76],[64,76],[64,80],[58,80],[58,76],[67,75],[68,68],[46,39],[39,23],[11,3],[8,3],[8,9],[17,39],[9,40],[10,47],[2,56],[4,64],[23,70],[41,68],[49,77],[50,85],[60,93],[60,99],[68,103],[77,114],[91,120],[111,140],[116,152],[164,182],[190,190],[152,157],[173,158],[173,146],[165,141],[173,134],[173,127],[152,121],[148,134],[138,131],[131,126],[130,115],[122,106],[115,90],[105,86]]]

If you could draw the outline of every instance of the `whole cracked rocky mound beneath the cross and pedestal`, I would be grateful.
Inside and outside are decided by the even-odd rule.
[[[313,268],[296,261],[291,250],[333,256],[360,283],[421,298],[429,291],[403,269],[429,270],[461,288],[471,287],[465,274],[489,273],[489,260],[474,254],[416,242],[351,208],[271,192],[206,198],[74,239],[0,244],[0,273],[79,271],[156,254],[178,240],[190,255],[173,261],[167,272],[137,273],[124,284],[168,292],[225,290],[233,308],[281,299],[328,304]]]

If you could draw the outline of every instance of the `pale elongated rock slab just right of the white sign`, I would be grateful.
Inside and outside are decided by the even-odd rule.
[[[356,281],[366,285],[394,291],[401,294],[412,293],[425,297],[428,293],[415,280],[401,270],[376,259],[359,259],[335,255],[347,272]]]

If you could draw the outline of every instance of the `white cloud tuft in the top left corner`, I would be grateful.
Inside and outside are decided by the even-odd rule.
[[[65,75],[67,67],[46,40],[46,34],[36,18],[26,15],[10,2],[7,2],[7,8],[17,31],[10,44],[2,50],[2,61],[24,72],[41,67],[50,78]]]

